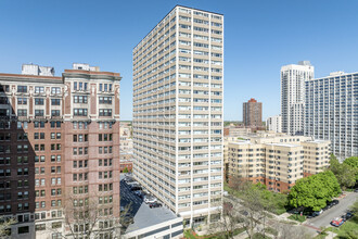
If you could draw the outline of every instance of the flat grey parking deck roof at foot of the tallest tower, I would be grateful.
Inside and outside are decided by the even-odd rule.
[[[126,234],[176,218],[178,218],[178,216],[169,209],[164,206],[150,209],[148,204],[142,203],[133,218],[135,223],[129,225]]]

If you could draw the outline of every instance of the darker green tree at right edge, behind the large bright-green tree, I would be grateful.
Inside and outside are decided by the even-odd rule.
[[[350,188],[356,185],[358,177],[358,168],[355,168],[358,158],[348,158],[344,163],[340,163],[338,160],[331,155],[330,171],[333,172],[337,178],[343,190]]]

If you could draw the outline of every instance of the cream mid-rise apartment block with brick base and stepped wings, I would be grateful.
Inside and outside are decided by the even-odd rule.
[[[248,140],[226,142],[225,156],[229,181],[240,177],[282,192],[290,190],[297,179],[329,166],[330,141],[260,133]]]

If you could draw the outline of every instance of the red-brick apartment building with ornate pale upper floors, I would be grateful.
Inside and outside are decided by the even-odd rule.
[[[113,235],[119,80],[87,64],[74,64],[62,77],[37,65],[0,74],[0,215],[18,222],[11,238],[62,238],[71,232],[67,219],[82,234],[89,225],[73,219],[74,212],[88,205],[97,211],[86,215],[98,215],[99,236]]]

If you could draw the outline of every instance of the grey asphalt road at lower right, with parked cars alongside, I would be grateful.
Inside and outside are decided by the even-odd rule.
[[[330,223],[335,217],[344,215],[349,206],[358,199],[357,192],[349,192],[346,197],[340,200],[337,205],[332,206],[331,209],[324,211],[321,215],[310,218],[306,224],[315,227],[327,227],[330,226]]]

